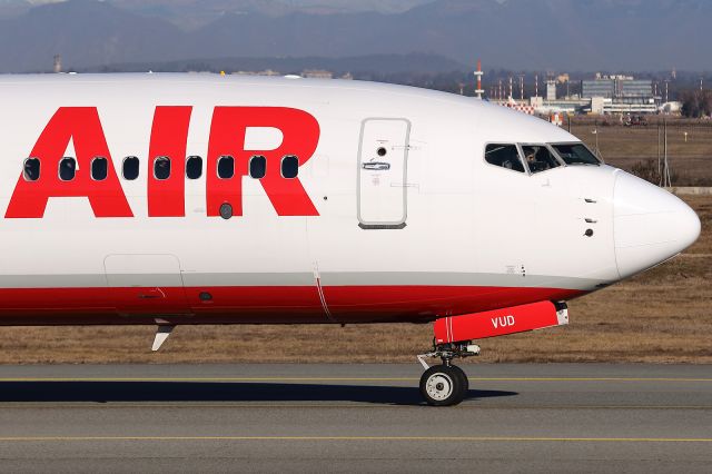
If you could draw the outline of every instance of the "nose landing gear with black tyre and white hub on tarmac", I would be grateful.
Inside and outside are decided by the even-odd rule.
[[[479,347],[469,343],[435,345],[433,352],[417,356],[425,368],[421,377],[421,394],[428,405],[451,406],[461,403],[469,389],[469,381],[462,368],[452,364],[456,357],[479,354]],[[443,363],[428,367],[426,357],[439,357]]]

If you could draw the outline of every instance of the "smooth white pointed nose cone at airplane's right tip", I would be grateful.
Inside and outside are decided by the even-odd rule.
[[[673,194],[622,171],[614,186],[613,236],[621,278],[665,261],[700,236],[700,218]]]

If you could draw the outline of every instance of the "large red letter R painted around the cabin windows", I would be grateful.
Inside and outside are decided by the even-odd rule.
[[[284,139],[275,150],[244,150],[248,127],[271,127]],[[254,155],[267,160],[267,174],[259,181],[279,216],[318,216],[314,203],[298,178],[281,177],[281,158],[294,155],[304,165],[319,141],[319,124],[309,113],[284,107],[216,107],[210,125],[207,167],[207,213],[219,216],[220,206],[228,203],[235,216],[243,215],[243,177],[248,175],[248,161]],[[235,158],[235,176],[220,179],[217,162],[221,156]]]

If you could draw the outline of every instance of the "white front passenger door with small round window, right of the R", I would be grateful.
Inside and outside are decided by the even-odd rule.
[[[358,150],[358,226],[402,229],[407,217],[407,159],[411,122],[364,120]]]

